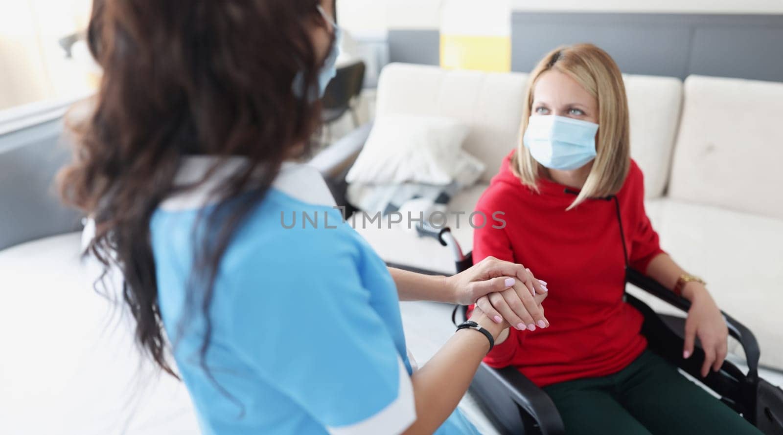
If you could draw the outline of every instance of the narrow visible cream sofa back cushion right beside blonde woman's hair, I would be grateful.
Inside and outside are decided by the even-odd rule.
[[[683,84],[674,77],[624,75],[631,128],[631,156],[644,172],[644,195],[663,196],[680,122]]]

